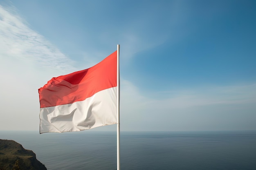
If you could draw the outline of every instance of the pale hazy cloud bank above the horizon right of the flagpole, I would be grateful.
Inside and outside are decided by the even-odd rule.
[[[125,130],[253,130],[256,84],[204,86],[161,92],[149,98],[121,80],[121,125]]]

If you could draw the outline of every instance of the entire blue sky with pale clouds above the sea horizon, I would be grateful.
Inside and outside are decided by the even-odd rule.
[[[120,44],[121,131],[256,130],[256,1],[0,0],[0,130]],[[116,130],[116,125],[94,130]]]

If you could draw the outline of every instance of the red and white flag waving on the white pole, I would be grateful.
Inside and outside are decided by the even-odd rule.
[[[53,77],[38,93],[40,133],[117,124],[117,51],[91,68]]]

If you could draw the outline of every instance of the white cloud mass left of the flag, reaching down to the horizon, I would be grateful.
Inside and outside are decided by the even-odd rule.
[[[75,71],[74,61],[29,28],[13,7],[0,6],[0,129],[36,130],[37,89]]]

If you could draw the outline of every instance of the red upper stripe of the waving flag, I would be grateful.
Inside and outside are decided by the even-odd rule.
[[[38,89],[40,108],[72,104],[117,86],[117,51],[91,68],[54,77]]]

